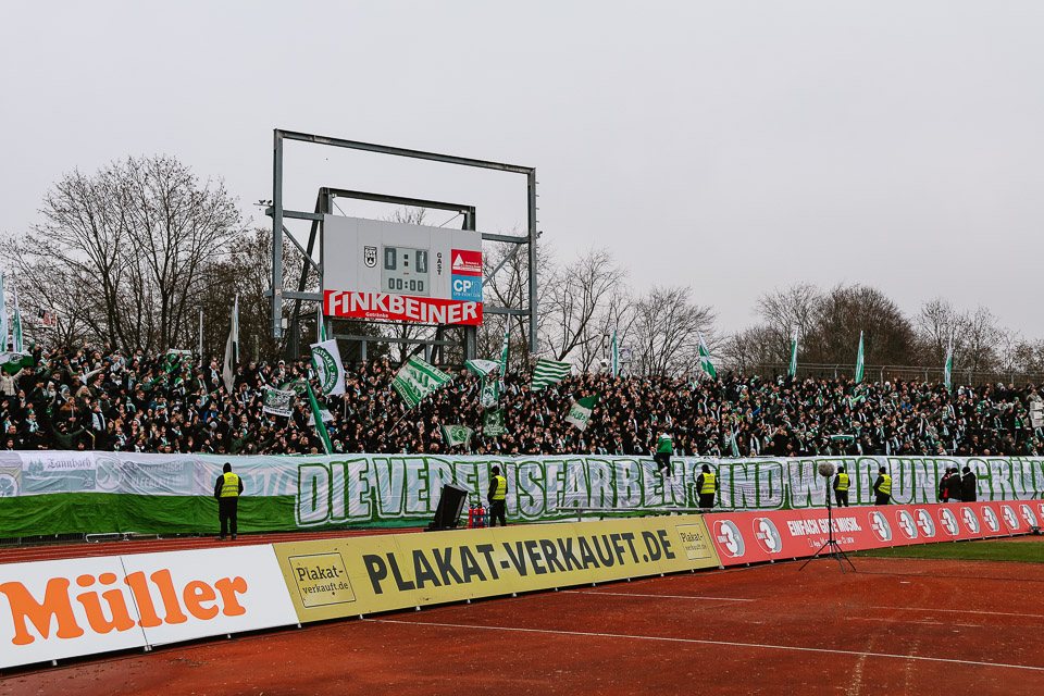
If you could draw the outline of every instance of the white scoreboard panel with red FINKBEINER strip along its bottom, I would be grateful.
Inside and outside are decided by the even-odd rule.
[[[323,312],[424,324],[482,324],[482,235],[324,215]]]

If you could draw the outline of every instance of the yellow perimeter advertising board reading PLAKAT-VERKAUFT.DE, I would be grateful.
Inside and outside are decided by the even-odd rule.
[[[300,621],[712,568],[700,515],[273,544]]]

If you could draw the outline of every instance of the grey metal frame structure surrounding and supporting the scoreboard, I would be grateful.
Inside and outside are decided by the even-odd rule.
[[[482,304],[482,311],[485,314],[506,314],[506,315],[521,315],[529,318],[529,328],[530,328],[530,350],[536,352],[537,349],[537,277],[536,277],[536,240],[539,236],[537,232],[537,217],[536,217],[536,167],[533,166],[521,166],[517,164],[506,164],[504,162],[493,162],[486,160],[476,160],[471,158],[457,157],[452,154],[439,154],[436,152],[425,152],[422,150],[410,150],[407,148],[399,148],[385,145],[375,145],[372,142],[361,142],[358,140],[346,140],[341,138],[332,138],[326,136],[320,136],[309,133],[299,133],[294,130],[284,130],[282,128],[276,128],[273,132],[273,177],[272,177],[272,200],[269,208],[265,209],[265,214],[272,217],[272,289],[266,293],[268,297],[272,298],[272,336],[273,338],[283,337],[283,304],[282,300],[294,300],[294,327],[290,332],[290,340],[287,341],[286,350],[287,355],[291,357],[297,356],[297,344],[299,336],[299,318],[300,318],[300,308],[302,301],[315,301],[323,302],[323,296],[320,293],[307,293],[306,279],[309,266],[314,269],[320,278],[320,287],[325,288],[325,278],[323,275],[324,271],[324,259],[320,258],[320,261],[316,262],[312,258],[312,252],[315,247],[316,238],[320,241],[320,247],[322,248],[325,231],[324,231],[324,220],[325,215],[328,215],[331,210],[331,202],[333,198],[337,196],[356,198],[361,200],[371,200],[388,203],[397,203],[403,206],[415,206],[421,208],[434,208],[442,210],[456,210],[459,211],[464,216],[463,228],[464,229],[475,229],[475,209],[473,206],[461,206],[456,203],[447,203],[444,201],[426,201],[421,199],[414,199],[403,196],[389,196],[383,194],[373,194],[364,191],[349,191],[344,189],[336,188],[321,188],[319,196],[315,201],[315,210],[310,211],[298,211],[298,210],[288,210],[283,206],[283,157],[284,157],[284,144],[286,140],[296,140],[301,142],[312,142],[314,145],[321,145],[326,147],[337,147],[345,148],[350,150],[362,150],[365,152],[373,152],[377,154],[388,154],[391,157],[405,157],[419,160],[427,160],[432,162],[440,162],[444,164],[455,164],[458,166],[471,166],[477,169],[486,169],[499,172],[507,172],[511,174],[522,174],[525,176],[525,197],[526,197],[526,235],[517,236],[517,235],[499,235],[490,233],[481,233],[481,239],[485,241],[506,241],[510,244],[526,246],[526,251],[529,256],[529,302],[527,307],[495,307],[489,303]],[[286,228],[286,222],[288,220],[300,220],[300,221],[310,221],[311,229],[308,237],[307,249],[302,247],[297,239],[294,238],[289,231]],[[448,232],[448,231],[443,231]],[[304,256],[304,266],[302,268],[300,281],[297,284],[298,287],[296,290],[284,288],[284,278],[283,278],[283,240],[284,235],[290,240],[294,246],[296,246],[301,253]],[[519,249],[517,248],[511,252],[511,256],[515,253]],[[510,258],[510,257],[509,257]],[[489,276],[493,276],[500,270],[504,264],[497,266]],[[488,279],[487,276],[485,279]],[[436,316],[438,319],[438,316]],[[439,324],[439,328],[444,325]],[[464,357],[465,359],[471,359],[475,357],[475,327],[473,325],[464,325]],[[391,338],[391,337],[375,337],[375,336],[340,336],[337,335],[337,338],[346,338],[353,340],[362,341],[363,355],[365,353],[366,341],[373,343],[396,343],[401,341],[402,339]],[[453,341],[446,340],[431,340],[431,339],[409,339],[407,343],[411,344],[427,344],[427,345],[458,345]]]

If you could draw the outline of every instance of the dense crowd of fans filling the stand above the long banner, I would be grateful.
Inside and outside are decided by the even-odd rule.
[[[33,348],[34,366],[0,375],[2,449],[288,455],[321,451],[307,398],[293,417],[262,411],[264,386],[312,380],[307,361],[246,362],[226,390],[222,361],[124,355],[108,347]],[[506,434],[482,432],[481,378],[453,382],[406,411],[391,388],[396,365],[364,363],[347,394],[327,397],[336,452],[650,455],[660,433],[683,456],[1036,456],[1044,433],[1030,419],[1035,385],[955,387],[925,382],[856,385],[850,380],[612,377],[581,374],[543,390],[526,374],[504,378]],[[566,421],[571,403],[598,395],[585,431]],[[467,425],[449,449],[442,425]]]

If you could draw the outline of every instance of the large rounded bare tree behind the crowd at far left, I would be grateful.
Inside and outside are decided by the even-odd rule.
[[[28,303],[55,309],[77,338],[132,350],[195,335],[203,269],[241,231],[223,184],[162,156],[66,174],[40,214],[44,222],[3,249],[17,274],[33,278]]]

